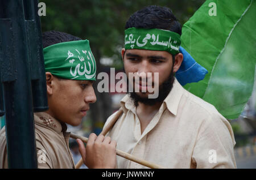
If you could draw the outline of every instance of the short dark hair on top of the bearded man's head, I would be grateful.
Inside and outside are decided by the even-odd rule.
[[[133,27],[165,29],[181,35],[181,25],[168,7],[152,5],[135,12],[127,20],[125,29]]]

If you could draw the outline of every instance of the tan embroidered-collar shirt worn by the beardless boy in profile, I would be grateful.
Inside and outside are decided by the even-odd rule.
[[[35,113],[34,119],[38,168],[75,168],[67,126],[47,113]],[[5,127],[0,131],[0,168],[8,168]]]

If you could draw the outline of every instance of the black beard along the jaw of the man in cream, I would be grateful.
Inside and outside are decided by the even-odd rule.
[[[158,102],[163,102],[164,99],[168,96],[168,94],[171,92],[173,84],[174,84],[174,72],[173,68],[171,71],[170,76],[159,86],[159,94],[157,98],[148,98],[148,97],[141,97],[139,96],[135,91],[129,92],[128,91],[128,85],[127,85],[127,92],[131,97],[131,100],[133,100],[134,105],[137,107],[138,102],[141,102],[142,104],[153,106]],[[127,83],[128,83],[127,79]]]

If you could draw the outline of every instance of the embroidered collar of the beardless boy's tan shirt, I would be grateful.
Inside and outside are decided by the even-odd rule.
[[[51,128],[57,133],[67,131],[67,125],[65,125],[65,123],[58,121],[48,113],[35,113],[34,119],[35,123]]]

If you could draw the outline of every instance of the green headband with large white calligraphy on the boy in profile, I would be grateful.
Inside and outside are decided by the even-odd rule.
[[[88,40],[61,42],[44,48],[46,72],[75,80],[96,80],[96,61]]]

